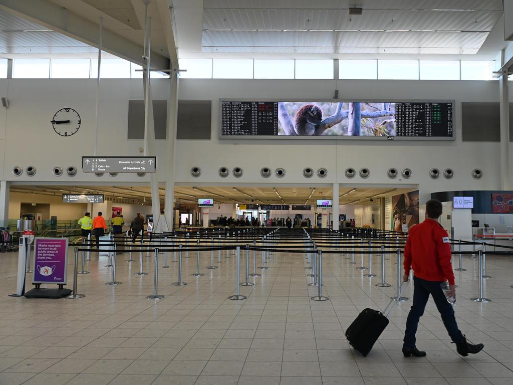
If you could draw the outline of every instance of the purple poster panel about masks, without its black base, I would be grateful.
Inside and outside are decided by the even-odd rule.
[[[67,238],[36,238],[32,283],[66,284]]]

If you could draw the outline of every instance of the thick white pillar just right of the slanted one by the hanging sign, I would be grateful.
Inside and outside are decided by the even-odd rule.
[[[166,197],[164,212],[169,228],[173,229],[174,218],[174,171],[176,163],[176,122],[178,116],[178,72],[173,69],[169,73],[169,100],[167,103],[167,132],[168,132],[168,172],[166,182]],[[177,223],[176,223],[177,224]]]

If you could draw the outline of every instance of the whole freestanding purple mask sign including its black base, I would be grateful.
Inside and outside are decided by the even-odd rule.
[[[28,291],[25,297],[62,298],[70,295],[71,290],[64,288],[67,266],[68,238],[35,238],[32,279],[35,288]],[[41,288],[43,283],[57,284],[57,288]]]

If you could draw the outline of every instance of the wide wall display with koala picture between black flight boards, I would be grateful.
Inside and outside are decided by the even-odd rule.
[[[452,102],[221,101],[220,138],[452,140]]]

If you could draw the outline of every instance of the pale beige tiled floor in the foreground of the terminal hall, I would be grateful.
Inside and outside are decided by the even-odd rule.
[[[184,258],[186,286],[171,285],[177,263],[170,255],[170,268],[160,268],[165,298],[158,301],[145,298],[153,292],[153,259],[144,258],[149,275],[134,276],[139,262],[126,257],[117,260],[123,284],[105,285],[111,268],[104,267],[105,258],[93,258],[86,264],[91,274],[78,276],[85,298],[50,300],[8,297],[15,290],[16,255],[0,255],[0,384],[513,384],[509,257],[488,258],[493,278],[485,288],[493,302],[487,304],[468,300],[477,295],[476,261],[464,258],[468,270],[456,274],[460,329],[485,344],[484,352],[468,358],[455,353],[431,301],[417,335],[427,357],[404,358],[400,351],[410,301],[394,309],[367,357],[349,348],[345,328],[365,307],[383,309],[395,292],[393,258],[386,261],[392,287],[380,288],[374,285],[379,277],[365,278],[344,256],[324,254],[330,300],[314,302],[309,297],[317,289],[307,286],[311,278],[301,254],[275,254],[263,277],[251,279],[254,286],[241,286],[248,295],[242,301],[227,299],[234,293],[235,259],[225,254],[213,270],[204,268],[210,254],[202,255],[205,275],[199,278],[191,276],[195,255]],[[381,271],[379,258],[373,269]],[[411,287],[404,295],[411,297]]]

